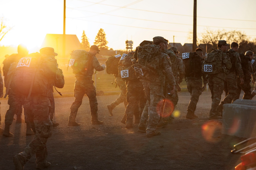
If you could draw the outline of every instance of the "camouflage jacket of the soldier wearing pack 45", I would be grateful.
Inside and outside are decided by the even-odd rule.
[[[98,59],[95,55],[91,55],[91,58],[88,60],[88,68],[85,72],[75,74],[76,77],[83,78],[83,79],[92,79],[92,75],[94,73],[94,69],[96,71],[104,70],[103,66],[100,65]]]

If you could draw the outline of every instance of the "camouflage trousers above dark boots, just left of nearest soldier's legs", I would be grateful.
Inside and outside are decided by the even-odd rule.
[[[22,95],[10,93],[8,96],[9,109],[6,111],[4,123],[12,124],[15,114],[22,113]],[[24,111],[25,112],[25,111]]]

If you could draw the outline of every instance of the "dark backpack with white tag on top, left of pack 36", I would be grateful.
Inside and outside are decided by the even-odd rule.
[[[121,59],[120,54],[108,57],[106,61],[106,72],[108,74],[118,75],[118,65],[119,65],[120,59]]]

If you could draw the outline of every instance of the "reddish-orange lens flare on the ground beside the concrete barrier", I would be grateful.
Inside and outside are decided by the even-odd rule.
[[[215,133],[221,132],[221,124],[216,121],[209,121],[202,125],[202,136],[208,142],[217,142]]]

